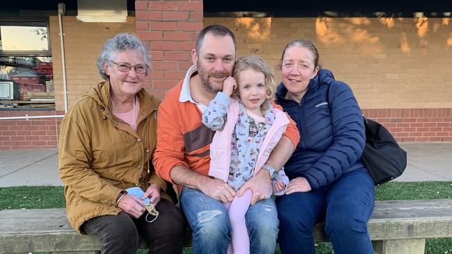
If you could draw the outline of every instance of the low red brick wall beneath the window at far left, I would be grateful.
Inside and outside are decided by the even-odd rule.
[[[0,110],[0,117],[23,117],[26,115],[64,115],[64,111]],[[60,118],[1,120],[0,150],[56,147],[60,122]]]

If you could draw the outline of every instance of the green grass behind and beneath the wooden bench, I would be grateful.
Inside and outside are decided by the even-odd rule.
[[[0,187],[0,210],[65,208],[63,187]],[[452,197],[452,182],[387,183],[376,187],[376,200],[417,200]],[[318,254],[331,254],[330,243],[316,244]],[[147,253],[145,250],[138,251]],[[184,254],[193,253],[185,248]],[[277,250],[276,253],[280,253]],[[452,238],[427,239],[426,254],[452,254]]]

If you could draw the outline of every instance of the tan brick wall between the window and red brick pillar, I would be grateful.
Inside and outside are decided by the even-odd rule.
[[[54,85],[56,110],[64,110],[63,69],[61,61],[58,17],[50,19],[50,42],[54,60]],[[74,16],[63,17],[65,34],[65,60],[67,76],[67,98],[69,106],[88,90],[103,81],[97,71],[96,60],[104,42],[118,33],[135,33],[135,17],[127,22],[77,22]]]

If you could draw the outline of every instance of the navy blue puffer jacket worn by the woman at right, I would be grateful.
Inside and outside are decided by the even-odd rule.
[[[286,87],[278,85],[275,102],[300,131],[296,151],[284,166],[289,179],[305,177],[312,189],[318,189],[343,173],[366,170],[361,161],[366,139],[362,114],[346,83],[321,69],[309,82],[300,104],[284,99],[286,93]]]

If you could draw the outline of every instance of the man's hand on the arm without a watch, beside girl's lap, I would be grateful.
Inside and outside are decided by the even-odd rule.
[[[223,180],[210,177],[206,177],[203,181],[203,184],[200,186],[200,191],[223,203],[232,201],[234,196],[236,196],[236,191]]]

